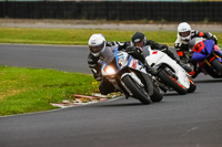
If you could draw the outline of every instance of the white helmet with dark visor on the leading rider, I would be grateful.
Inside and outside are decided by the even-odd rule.
[[[100,53],[105,49],[105,38],[101,33],[92,34],[88,42],[90,52],[94,56],[99,56]]]

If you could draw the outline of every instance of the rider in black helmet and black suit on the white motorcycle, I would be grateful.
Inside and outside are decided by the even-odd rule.
[[[120,48],[129,50],[134,50],[134,48],[143,48],[145,45],[150,45],[152,50],[159,50],[168,54],[172,60],[174,60],[179,65],[181,65],[186,72],[191,72],[191,69],[185,66],[178,60],[174,54],[169,50],[168,45],[159,44],[152,40],[147,40],[147,36],[142,32],[135,32],[131,41],[124,42],[124,44]]]

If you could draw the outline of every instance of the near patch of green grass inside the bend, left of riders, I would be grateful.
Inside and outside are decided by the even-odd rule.
[[[0,116],[57,108],[50,103],[98,92],[92,83],[88,74],[0,66]]]

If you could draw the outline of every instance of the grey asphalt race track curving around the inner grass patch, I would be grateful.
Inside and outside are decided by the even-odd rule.
[[[0,64],[90,73],[84,46],[0,45]],[[188,95],[141,105],[120,97],[0,117],[1,147],[221,147],[222,80],[200,75]]]

